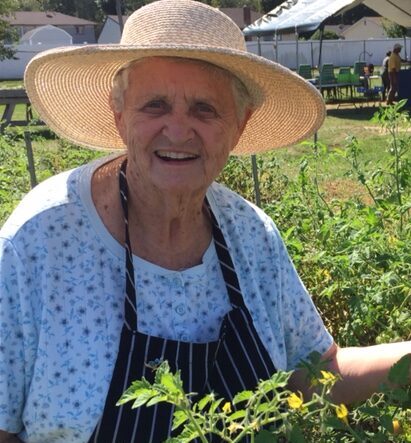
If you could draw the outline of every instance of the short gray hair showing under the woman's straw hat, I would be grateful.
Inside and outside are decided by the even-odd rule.
[[[245,116],[245,112],[247,109],[254,109],[253,100],[245,87],[244,83],[232,74],[230,71],[226,69],[220,68],[219,66],[213,65],[212,63],[208,63],[203,60],[195,60],[190,58],[182,58],[182,57],[168,57],[171,60],[178,60],[183,63],[195,64],[200,66],[201,68],[207,70],[211,75],[216,77],[225,77],[227,78],[232,86],[234,101],[236,105],[237,118],[239,121]],[[124,65],[119,71],[117,71],[116,75],[113,78],[113,86],[111,89],[111,98],[113,102],[113,107],[116,112],[121,112],[124,106],[124,93],[128,88],[128,75],[130,70],[140,63],[144,59],[134,60],[130,63]]]

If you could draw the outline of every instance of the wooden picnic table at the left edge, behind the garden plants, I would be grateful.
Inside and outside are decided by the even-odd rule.
[[[13,114],[16,105],[24,104],[26,106],[25,120],[14,120]],[[33,120],[30,100],[26,90],[19,89],[0,89],[0,106],[3,105],[3,114],[0,118],[0,134],[4,132],[7,126],[27,126]]]

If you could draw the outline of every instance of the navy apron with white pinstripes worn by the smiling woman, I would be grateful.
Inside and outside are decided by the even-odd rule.
[[[89,443],[161,443],[172,435],[172,405],[160,403],[131,409],[130,402],[115,406],[134,380],[145,377],[154,381],[152,366],[159,361],[167,360],[173,372],[180,370],[185,392],[197,392],[198,398],[213,391],[219,397],[232,400],[238,391],[253,389],[260,379],[267,379],[276,372],[244,304],[230,253],[208,202],[213,240],[232,305],[232,310],[223,319],[218,340],[189,343],[146,335],[137,330],[125,170],[126,161],[120,171],[120,195],[126,226],[125,318],[103,415]],[[207,438],[212,442],[219,441],[215,436]]]

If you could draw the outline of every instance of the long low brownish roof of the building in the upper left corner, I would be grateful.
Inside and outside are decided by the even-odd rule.
[[[95,22],[62,14],[61,12],[16,11],[3,16],[12,26],[81,26],[95,25]]]

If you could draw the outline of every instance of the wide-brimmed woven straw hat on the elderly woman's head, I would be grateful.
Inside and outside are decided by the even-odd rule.
[[[324,103],[312,85],[248,53],[241,30],[227,15],[191,0],[159,0],[138,9],[119,44],[40,53],[25,72],[27,93],[40,118],[61,137],[97,149],[124,148],[109,106],[113,77],[127,63],[155,56],[203,60],[244,83],[256,109],[233,154],[294,144],[323,122]]]

